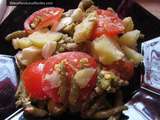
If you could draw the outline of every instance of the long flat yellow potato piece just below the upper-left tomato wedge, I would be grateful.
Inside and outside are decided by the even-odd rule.
[[[58,32],[41,32],[37,31],[29,35],[34,46],[42,48],[48,41],[58,41],[62,38],[62,34]]]

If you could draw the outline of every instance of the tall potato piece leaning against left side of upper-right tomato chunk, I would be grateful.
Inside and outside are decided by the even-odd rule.
[[[75,32],[73,35],[75,42],[81,43],[89,40],[95,25],[96,12],[89,13],[88,16],[75,27]]]

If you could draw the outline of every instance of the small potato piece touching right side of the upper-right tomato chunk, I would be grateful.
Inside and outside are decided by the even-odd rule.
[[[122,22],[125,27],[125,32],[132,31],[134,29],[134,23],[131,17],[125,17]]]

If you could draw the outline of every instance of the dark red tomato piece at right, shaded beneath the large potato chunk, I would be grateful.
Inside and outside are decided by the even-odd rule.
[[[134,63],[127,60],[119,60],[114,62],[107,69],[113,70],[123,80],[130,80],[134,74]]]

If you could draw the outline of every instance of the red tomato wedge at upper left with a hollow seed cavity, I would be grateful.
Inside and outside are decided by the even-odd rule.
[[[40,9],[26,19],[24,28],[27,32],[33,32],[34,30],[40,30],[48,26],[51,26],[52,30],[54,30],[62,17],[63,11],[64,9],[62,8],[54,7]],[[31,24],[37,19],[40,19],[40,21],[38,21],[35,29],[32,29]]]

